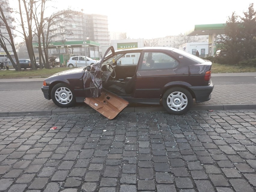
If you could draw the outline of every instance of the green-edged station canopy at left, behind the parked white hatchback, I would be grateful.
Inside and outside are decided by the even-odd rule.
[[[33,48],[38,48],[38,43],[33,43]],[[43,46],[43,44],[41,44]],[[99,53],[100,44],[95,41],[87,40],[85,46],[88,47],[88,51],[86,52],[86,56],[99,60],[99,57],[96,57],[96,53]],[[84,41],[53,41],[48,43],[48,49],[56,49],[58,48],[59,60],[60,63],[64,63],[64,61],[70,58],[70,55],[74,55],[73,48],[74,47],[84,47]],[[59,49],[65,48],[65,53],[60,54]],[[91,52],[92,51],[92,52]],[[94,56],[91,57],[91,53],[94,52]],[[65,63],[66,64],[66,63]]]

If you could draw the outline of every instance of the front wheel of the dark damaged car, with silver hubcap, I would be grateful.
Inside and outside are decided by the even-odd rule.
[[[74,91],[65,83],[54,85],[51,90],[51,98],[59,107],[72,107],[76,102]]]

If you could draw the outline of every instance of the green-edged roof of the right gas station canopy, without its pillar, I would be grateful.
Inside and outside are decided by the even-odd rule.
[[[186,35],[211,35],[225,34],[226,23],[195,25],[193,29],[186,32]]]

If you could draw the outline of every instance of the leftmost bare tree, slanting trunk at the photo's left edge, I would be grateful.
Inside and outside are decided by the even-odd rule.
[[[16,71],[21,71],[19,59],[16,53],[15,44],[14,44],[14,34],[13,29],[15,29],[15,26],[12,26],[12,17],[5,17],[5,13],[12,12],[12,9],[9,7],[9,4],[5,1],[0,2],[0,46],[4,49],[6,55],[10,59],[13,67]],[[8,38],[9,37],[9,38]],[[16,59],[17,65],[15,64],[14,60],[12,59],[8,48],[6,46],[6,42],[8,42],[11,45],[12,51],[14,53],[14,57]]]

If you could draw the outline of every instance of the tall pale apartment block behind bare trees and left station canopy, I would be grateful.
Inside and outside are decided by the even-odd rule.
[[[99,52],[101,54],[101,46],[110,45],[110,35],[108,32],[108,17],[99,14],[83,14],[72,16],[54,25],[51,29],[52,34],[59,34],[52,41],[83,41],[83,20],[85,38],[90,41],[96,41],[100,44]],[[59,27],[62,26],[62,27]],[[50,53],[56,53],[58,50],[50,50]],[[63,50],[60,50],[63,52]],[[84,47],[74,47],[75,55],[84,55]]]

